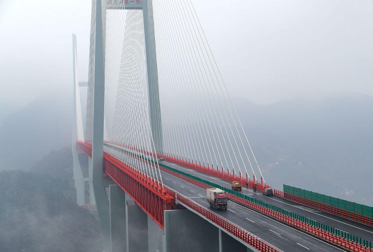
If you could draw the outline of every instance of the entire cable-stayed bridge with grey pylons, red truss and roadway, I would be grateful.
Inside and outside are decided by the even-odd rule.
[[[373,251],[369,215],[261,194],[270,186],[190,0],[93,1],[88,82],[76,52],[73,35],[77,202],[96,205],[105,251]],[[228,209],[210,208],[206,188],[226,191]]]

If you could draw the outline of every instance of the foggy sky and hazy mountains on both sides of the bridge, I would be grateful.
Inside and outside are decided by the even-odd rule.
[[[192,0],[266,181],[373,205],[373,2]],[[90,1],[0,0],[0,170],[71,144]]]

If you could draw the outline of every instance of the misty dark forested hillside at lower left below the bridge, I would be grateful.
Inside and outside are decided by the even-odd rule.
[[[0,172],[0,251],[103,250],[98,220],[66,197],[73,192],[71,165],[66,148],[30,172]]]

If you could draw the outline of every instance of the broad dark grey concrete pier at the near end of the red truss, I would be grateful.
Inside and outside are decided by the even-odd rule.
[[[172,251],[219,251],[219,229],[189,210],[166,210],[163,252]]]

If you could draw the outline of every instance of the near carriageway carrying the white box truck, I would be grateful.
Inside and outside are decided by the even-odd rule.
[[[228,202],[227,211],[214,210],[207,203],[205,189],[169,173],[161,171],[161,174],[164,185],[210,209],[253,235],[260,237],[260,239],[281,251],[343,251],[330,243],[321,241],[233,201]]]

